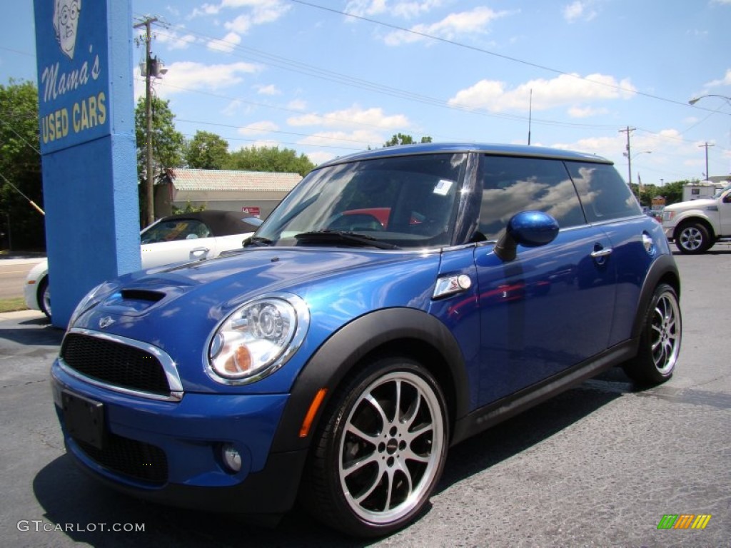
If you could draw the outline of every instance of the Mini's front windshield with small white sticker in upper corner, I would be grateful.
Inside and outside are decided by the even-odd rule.
[[[447,246],[465,161],[463,153],[425,154],[314,170],[273,211],[253,241],[283,246]]]

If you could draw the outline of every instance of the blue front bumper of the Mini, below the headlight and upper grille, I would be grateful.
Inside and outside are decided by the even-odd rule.
[[[51,378],[67,452],[110,487],[206,511],[281,514],[292,507],[306,450],[270,454],[288,395],[189,392],[179,402],[148,400],[83,382],[58,361]],[[69,395],[101,409],[99,444],[69,435]],[[238,472],[224,464],[224,444],[238,450]]]

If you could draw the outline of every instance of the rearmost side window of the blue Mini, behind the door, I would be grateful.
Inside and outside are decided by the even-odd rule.
[[[567,161],[566,166],[590,223],[641,213],[635,195],[613,166],[580,161]]]

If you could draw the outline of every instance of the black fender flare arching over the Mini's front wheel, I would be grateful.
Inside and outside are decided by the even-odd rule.
[[[469,381],[463,354],[454,336],[441,321],[415,308],[384,308],[359,316],[345,324],[328,338],[308,360],[292,386],[274,437],[271,452],[306,449],[327,403],[338,385],[369,354],[379,349],[392,349],[398,341],[411,340],[413,346],[433,360],[425,363],[438,379],[448,379],[450,387],[442,386],[449,402],[450,419],[455,421],[468,412]],[[413,347],[404,349],[414,354]],[[436,354],[435,354],[436,353]],[[436,370],[435,370],[436,369]],[[327,394],[319,406],[308,435],[300,437],[300,428],[319,389]],[[450,393],[452,392],[452,393]]]

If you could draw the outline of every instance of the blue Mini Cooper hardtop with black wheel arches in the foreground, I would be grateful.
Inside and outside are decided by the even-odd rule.
[[[680,279],[610,161],[425,144],[323,164],[243,248],[78,305],[67,451],[138,497],[358,536],[412,522],[447,450],[616,365],[673,374]]]

